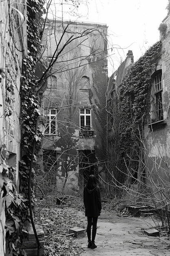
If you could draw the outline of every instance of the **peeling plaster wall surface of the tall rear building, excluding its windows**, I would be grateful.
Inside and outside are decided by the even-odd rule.
[[[69,24],[70,23],[70,24]],[[55,24],[55,25],[54,25]],[[66,189],[79,189],[79,152],[91,150],[96,152],[99,160],[106,158],[106,112],[105,92],[107,86],[107,27],[102,24],[86,22],[64,22],[49,20],[46,35],[44,35],[44,57],[50,61],[56,49],[56,42],[59,42],[63,28],[67,28],[61,45],[66,43],[71,36],[86,35],[79,37],[64,49],[53,68],[53,78],[49,78],[47,90],[44,92],[44,99],[50,99],[51,109],[58,109],[57,112],[57,136],[53,140],[55,148],[60,148],[57,154],[57,184],[61,179],[65,182]],[[89,33],[89,31],[92,31]],[[54,36],[55,35],[55,36]],[[50,42],[50,44],[48,43]],[[48,47],[46,48],[45,45]],[[69,61],[72,60],[72,61]],[[66,67],[62,65],[66,63]],[[91,110],[90,135],[80,137],[79,109],[89,108]],[[47,100],[44,100],[44,115],[46,115]],[[91,133],[91,130],[93,132]],[[49,136],[44,133],[43,148],[46,149]],[[51,149],[53,149],[51,143]],[[67,159],[70,159],[67,161]],[[68,166],[64,163],[72,162]],[[68,171],[68,173],[67,173]],[[68,174],[68,177],[66,177]],[[81,184],[82,186],[82,184]],[[59,185],[58,185],[59,188]],[[63,186],[62,186],[63,188]],[[61,190],[61,188],[59,188]]]

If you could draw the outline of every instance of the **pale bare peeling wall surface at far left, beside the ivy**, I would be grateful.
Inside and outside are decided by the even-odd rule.
[[[19,12],[26,17],[26,1],[22,1],[22,4],[17,0],[0,1],[0,144],[5,144],[10,153],[8,164],[16,168],[17,186],[21,138],[20,80],[22,60],[27,54],[26,18],[22,23]],[[5,214],[2,195],[0,222],[0,255],[4,256]]]

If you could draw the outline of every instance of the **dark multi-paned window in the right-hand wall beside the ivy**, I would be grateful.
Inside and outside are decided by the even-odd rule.
[[[162,104],[162,74],[159,73],[154,77],[155,91],[155,117],[156,121],[163,120],[163,104]]]

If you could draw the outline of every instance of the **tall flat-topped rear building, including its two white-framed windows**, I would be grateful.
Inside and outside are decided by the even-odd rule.
[[[40,164],[57,191],[79,191],[106,159],[107,26],[48,20],[43,62],[51,67],[42,97]],[[44,119],[43,119],[44,118]]]

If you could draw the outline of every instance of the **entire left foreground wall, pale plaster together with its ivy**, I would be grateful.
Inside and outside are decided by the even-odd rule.
[[[34,195],[29,186],[39,98],[35,65],[44,1],[0,2],[0,255],[22,251]],[[25,156],[21,160],[22,156]],[[24,161],[25,162],[24,162]],[[30,193],[28,193],[30,191]],[[29,195],[28,195],[29,194]],[[31,203],[29,203],[31,201]],[[31,215],[31,211],[30,211]],[[24,254],[24,252],[22,252]]]

